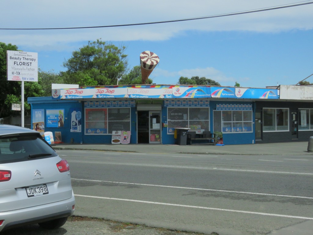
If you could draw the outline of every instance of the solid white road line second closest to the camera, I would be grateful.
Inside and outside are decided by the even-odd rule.
[[[115,182],[115,181],[105,181],[105,180],[85,180],[85,179],[75,179],[75,178],[72,178],[72,180],[104,182],[104,183],[113,183],[113,184],[126,184],[126,185],[153,186],[153,187],[176,188],[176,189],[192,189],[192,190],[213,191],[213,192],[242,193],[242,194],[253,194],[253,195],[262,195],[262,196],[278,196],[278,197],[292,197],[292,198],[302,198],[302,199],[313,199],[313,197],[303,197],[303,196],[290,196],[290,195],[268,194],[268,193],[253,193],[253,192],[229,191],[229,190],[218,190],[218,189],[202,189],[202,188],[167,186],[167,185],[126,183],[126,182]]]

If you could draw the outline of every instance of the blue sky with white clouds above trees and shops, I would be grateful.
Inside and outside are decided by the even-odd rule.
[[[129,69],[140,65],[143,51],[158,55],[149,76],[156,84],[199,76],[221,86],[295,85],[313,73],[313,4],[162,24],[42,28],[161,22],[302,3],[313,0],[2,1],[0,42],[37,52],[39,68],[55,73],[66,70],[73,51],[101,39],[126,46]],[[305,81],[313,83],[313,76]]]

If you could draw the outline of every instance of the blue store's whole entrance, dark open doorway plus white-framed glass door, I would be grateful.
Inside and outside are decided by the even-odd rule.
[[[137,143],[161,143],[161,112],[137,111]]]

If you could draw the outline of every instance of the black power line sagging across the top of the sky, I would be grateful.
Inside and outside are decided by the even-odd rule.
[[[173,22],[181,22],[181,21],[188,21],[188,20],[198,20],[198,19],[209,19],[209,18],[217,18],[217,17],[224,17],[224,16],[233,16],[233,15],[241,15],[241,14],[248,14],[248,13],[255,13],[255,12],[262,12],[262,11],[270,11],[270,10],[277,10],[282,8],[290,8],[290,7],[297,7],[310,3],[302,3],[294,4],[294,5],[280,5],[277,7],[270,7],[270,8],[260,8],[255,10],[243,11],[243,12],[233,12],[233,13],[226,13],[226,14],[219,14],[219,15],[211,15],[211,16],[203,16],[203,17],[196,17],[196,18],[186,18],[186,19],[177,19],[177,20],[166,20],[166,21],[156,21],[156,22],[148,22],[148,23],[137,23],[137,24],[116,24],[116,25],[105,25],[105,26],[88,26],[88,27],[69,27],[69,28],[0,28],[3,30],[46,30],[46,29],[93,29],[93,28],[111,28],[111,27],[124,27],[124,26],[136,26],[136,25],[146,25],[146,24],[163,24],[163,23],[173,23]]]

